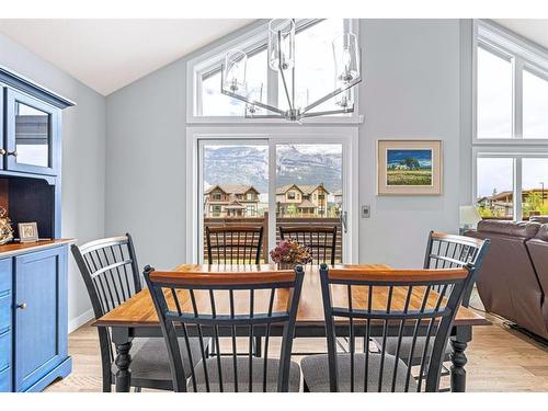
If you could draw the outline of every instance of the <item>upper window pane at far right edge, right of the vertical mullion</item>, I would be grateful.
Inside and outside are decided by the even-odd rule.
[[[548,138],[548,81],[523,70],[523,137]]]

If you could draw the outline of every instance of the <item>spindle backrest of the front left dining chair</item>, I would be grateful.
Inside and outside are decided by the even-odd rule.
[[[279,353],[277,391],[287,391],[293,336],[297,307],[302,287],[304,271],[298,265],[287,271],[254,272],[158,272],[147,266],[145,279],[152,295],[161,329],[170,357],[173,387],[175,391],[186,391],[185,375],[191,375],[190,389],[194,391],[266,391],[269,363],[269,342],[271,328],[283,328]],[[183,339],[178,339],[180,330]],[[253,335],[264,335],[264,355],[260,376],[256,359],[253,361]],[[237,351],[237,335],[248,335],[249,355],[241,356]],[[190,339],[197,336],[201,363],[195,367],[192,358]],[[231,339],[231,349],[224,350],[222,358],[231,356],[228,367],[221,366],[220,350],[207,362],[205,340],[213,338],[219,347],[219,338]],[[181,358],[180,342],[190,356],[189,363]],[[240,346],[241,350],[241,346]],[[198,354],[196,354],[198,355]],[[238,381],[238,370],[249,367],[249,380]],[[191,364],[190,366],[186,364]],[[185,369],[185,367],[190,369]],[[255,377],[253,378],[253,369]],[[272,370],[272,369],[271,369]],[[205,380],[197,378],[196,373]],[[215,378],[213,376],[217,376]],[[224,383],[224,379],[226,383]],[[229,380],[231,381],[229,383]],[[198,387],[199,385],[201,387]],[[215,387],[214,387],[215,386]]]

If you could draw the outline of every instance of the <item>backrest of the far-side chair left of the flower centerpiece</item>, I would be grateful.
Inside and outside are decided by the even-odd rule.
[[[208,264],[260,264],[263,227],[206,227]]]

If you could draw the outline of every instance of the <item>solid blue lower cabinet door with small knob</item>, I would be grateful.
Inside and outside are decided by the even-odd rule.
[[[66,261],[65,247],[15,256],[16,391],[67,358]]]

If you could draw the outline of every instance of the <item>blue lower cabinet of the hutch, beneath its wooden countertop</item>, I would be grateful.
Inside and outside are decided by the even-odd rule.
[[[67,246],[0,260],[0,286],[4,283],[10,292],[3,294],[8,302],[0,302],[0,318],[12,326],[0,331],[0,391],[39,391],[71,369]]]

